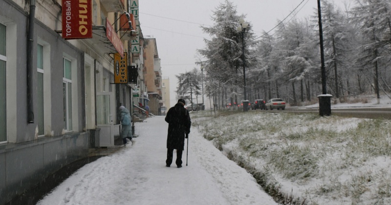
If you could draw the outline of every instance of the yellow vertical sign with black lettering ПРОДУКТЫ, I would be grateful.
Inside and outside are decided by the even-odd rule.
[[[128,83],[128,53],[114,53],[114,83]]]

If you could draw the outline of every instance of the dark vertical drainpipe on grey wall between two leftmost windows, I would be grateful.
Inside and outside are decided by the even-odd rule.
[[[27,123],[34,123],[33,57],[34,57],[35,0],[30,0],[27,34]]]

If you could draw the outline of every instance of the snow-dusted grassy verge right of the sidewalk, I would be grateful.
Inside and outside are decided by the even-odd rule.
[[[391,204],[391,121],[229,113],[192,119],[230,159],[262,176],[264,187],[310,205]]]

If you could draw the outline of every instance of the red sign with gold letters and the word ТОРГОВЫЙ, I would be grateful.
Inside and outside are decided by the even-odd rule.
[[[92,38],[92,1],[63,0],[62,4],[63,38]]]

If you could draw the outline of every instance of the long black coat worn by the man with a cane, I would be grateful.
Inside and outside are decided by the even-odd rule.
[[[183,103],[178,102],[174,107],[171,107],[165,118],[168,124],[167,148],[169,149],[184,149],[185,135],[190,133],[189,111],[184,108]]]

